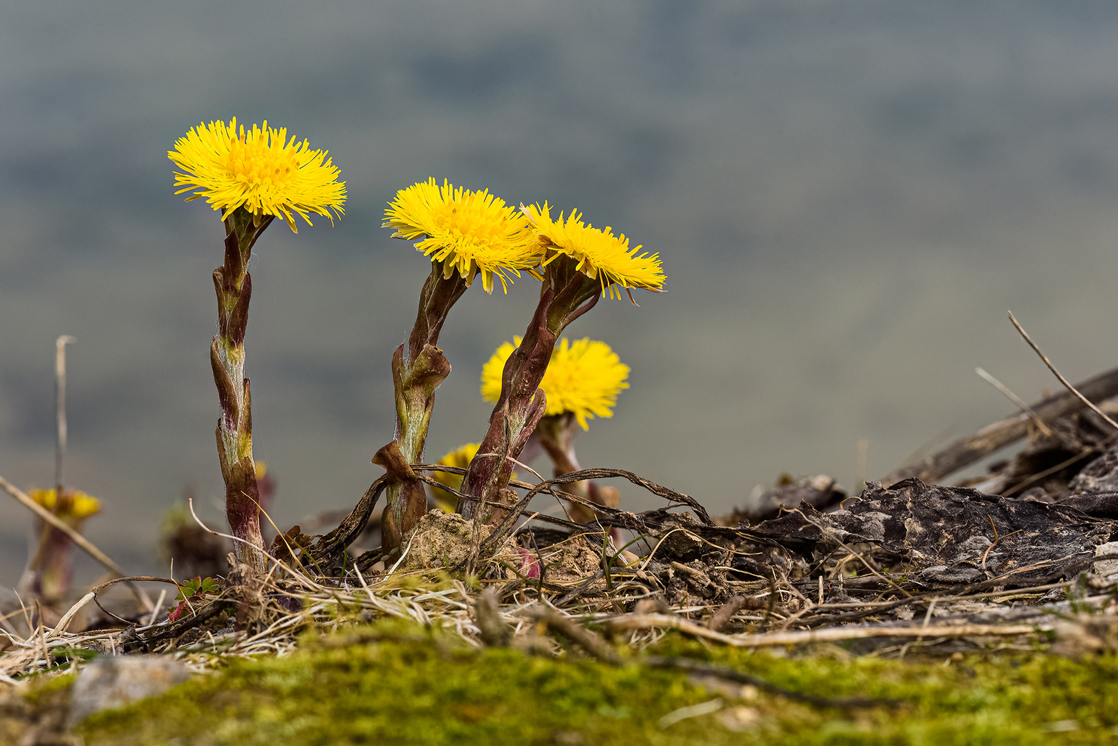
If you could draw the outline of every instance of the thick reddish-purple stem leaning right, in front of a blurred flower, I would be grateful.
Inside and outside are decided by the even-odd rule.
[[[547,267],[540,303],[520,346],[504,363],[501,398],[490,415],[489,431],[477,456],[462,480],[462,492],[481,498],[463,500],[458,510],[465,518],[481,516],[485,523],[501,518],[502,491],[509,486],[514,463],[547,410],[540,389],[555,351],[556,341],[567,325],[594,307],[601,286],[576,268],[570,257],[560,256]]]

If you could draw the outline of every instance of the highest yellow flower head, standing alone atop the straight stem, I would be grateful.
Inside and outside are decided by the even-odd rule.
[[[174,173],[176,192],[197,190],[187,201],[205,197],[227,219],[237,208],[257,218],[277,216],[299,232],[294,216],[311,224],[309,213],[325,216],[333,222],[345,203],[345,182],[338,181],[338,166],[326,151],[312,151],[304,140],[287,141],[287,130],[245,125],[237,118],[229,124],[210,122],[191,127],[186,137],[174,142],[167,156],[186,173]]]

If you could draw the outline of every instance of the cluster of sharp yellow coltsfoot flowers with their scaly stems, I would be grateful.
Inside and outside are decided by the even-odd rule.
[[[273,218],[285,220],[295,231],[296,216],[309,224],[312,213],[331,222],[342,216],[345,183],[325,151],[312,150],[306,140],[288,140],[285,128],[269,127],[266,121],[248,128],[236,118],[200,123],[176,141],[168,156],[177,166],[176,193],[189,193],[187,201],[205,199],[225,221],[225,262],[214,272],[218,336],[210,345],[222,413],[218,456],[226,514],[239,539],[238,558],[263,571],[258,514],[264,469],[263,465],[254,469],[252,399],[244,365],[252,295],[248,258]],[[455,187],[445,179],[439,184],[429,178],[399,190],[385,210],[382,227],[391,228],[394,238],[414,242],[430,260],[411,334],[392,356],[396,437],[373,459],[391,475],[385,490],[381,548],[394,556],[426,511],[424,485],[407,466],[423,462],[435,391],[451,372],[438,336],[452,307],[477,276],[489,294],[496,280],[508,293],[522,272],[543,287],[532,323],[515,341],[523,347],[513,355],[512,344],[502,345],[485,365],[483,393],[500,402],[485,439],[443,458],[443,463],[466,468],[467,475],[464,479],[440,475],[442,484],[480,498],[467,500],[464,513],[496,504],[511,478],[511,465],[544,418],[544,409],[549,417],[562,415],[567,440],[574,421],[587,429],[590,418],[612,417],[618,392],[628,388],[628,366],[605,343],[562,339],[557,347],[557,341],[601,297],[619,298],[624,290],[632,299],[633,288],[663,290],[664,271],[660,255],[641,252],[641,246],[631,247],[625,235],[615,235],[609,227],[594,228],[578,211],[552,219],[547,202],[517,209],[487,190]],[[504,376],[510,355],[513,360]],[[546,408],[536,395],[539,388],[547,394]],[[558,427],[552,419],[547,421],[549,428]],[[476,458],[479,452],[485,458]],[[506,458],[490,458],[499,453]],[[571,452],[568,460],[572,459]],[[436,496],[447,508],[457,501],[437,488]],[[498,515],[491,511],[486,520]]]

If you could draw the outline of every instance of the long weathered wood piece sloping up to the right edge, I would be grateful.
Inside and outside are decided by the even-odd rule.
[[[1118,369],[1100,373],[1076,388],[1092,402],[1118,395]],[[1048,423],[1061,417],[1074,414],[1086,405],[1074,394],[1064,392],[1049,396],[1031,407],[1036,414]],[[944,477],[970,466],[991,453],[1021,440],[1029,433],[1029,414],[1021,412],[1005,420],[987,424],[978,432],[967,438],[956,440],[947,448],[932,453],[919,463],[901,467],[881,479],[889,486],[902,479],[916,477],[925,482],[935,482]]]

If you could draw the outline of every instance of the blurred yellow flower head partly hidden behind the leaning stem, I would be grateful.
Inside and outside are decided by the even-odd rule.
[[[520,344],[520,337],[513,337]],[[501,373],[504,362],[517,347],[505,342],[482,367],[482,396],[487,402],[501,398]],[[589,430],[587,418],[614,415],[617,393],[628,389],[629,367],[622,363],[605,342],[563,337],[551,353],[551,362],[540,388],[548,398],[546,414],[574,412],[575,419]]]

